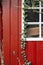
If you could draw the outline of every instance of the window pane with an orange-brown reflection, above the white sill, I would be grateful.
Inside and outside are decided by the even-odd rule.
[[[39,37],[39,25],[28,25],[26,31],[27,37]]]

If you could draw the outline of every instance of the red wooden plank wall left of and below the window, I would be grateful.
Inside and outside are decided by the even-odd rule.
[[[3,0],[3,50],[5,65],[21,65],[21,23],[22,0]],[[26,54],[32,65],[43,65],[43,41],[28,41]],[[28,51],[27,51],[28,50]]]

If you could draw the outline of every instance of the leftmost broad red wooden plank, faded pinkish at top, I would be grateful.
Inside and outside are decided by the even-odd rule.
[[[10,0],[3,0],[3,50],[4,50],[4,61],[5,65],[11,65],[10,60]]]

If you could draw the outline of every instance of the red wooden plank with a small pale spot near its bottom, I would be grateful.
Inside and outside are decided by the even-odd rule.
[[[11,65],[18,65],[18,1],[11,0]]]

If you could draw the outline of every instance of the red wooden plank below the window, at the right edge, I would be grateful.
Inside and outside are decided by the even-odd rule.
[[[43,65],[43,41],[37,42],[37,65]]]

